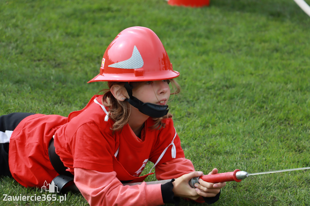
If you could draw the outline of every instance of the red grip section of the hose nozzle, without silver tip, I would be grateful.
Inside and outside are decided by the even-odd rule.
[[[230,182],[230,181],[240,182],[242,179],[236,178],[236,173],[239,171],[240,170],[234,170],[233,172],[202,175],[199,178],[201,178],[203,181],[212,182],[212,183]]]

